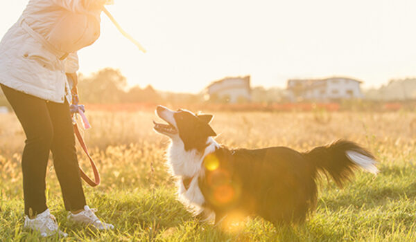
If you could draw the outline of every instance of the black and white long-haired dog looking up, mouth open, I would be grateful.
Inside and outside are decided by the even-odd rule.
[[[361,167],[378,172],[369,151],[354,142],[300,153],[287,147],[227,149],[214,140],[213,118],[186,110],[157,106],[155,131],[171,138],[168,165],[178,178],[180,201],[197,214],[214,212],[215,221],[227,214],[257,214],[279,224],[302,223],[317,200],[318,171],[342,186]]]

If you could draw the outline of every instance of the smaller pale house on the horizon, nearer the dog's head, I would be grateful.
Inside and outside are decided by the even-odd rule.
[[[250,75],[225,77],[207,86],[207,99],[211,102],[250,102],[252,100]]]

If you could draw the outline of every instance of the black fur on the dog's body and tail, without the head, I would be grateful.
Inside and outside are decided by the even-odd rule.
[[[326,147],[300,153],[286,147],[266,149],[216,149],[219,167],[205,169],[198,184],[205,206],[216,214],[216,221],[232,210],[258,214],[275,224],[302,223],[316,205],[318,171],[329,174],[342,186],[357,165],[345,156],[354,150],[374,158],[353,142],[339,140]],[[218,187],[232,187],[235,196],[226,203],[216,201]],[[225,196],[227,196],[225,194]]]

